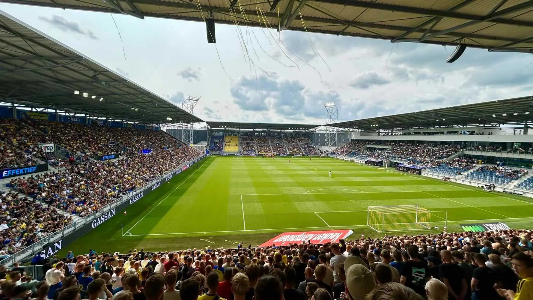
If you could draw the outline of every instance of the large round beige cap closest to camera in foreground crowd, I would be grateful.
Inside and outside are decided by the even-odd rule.
[[[346,270],[346,287],[353,300],[364,300],[375,286],[374,274],[364,265],[354,264]]]

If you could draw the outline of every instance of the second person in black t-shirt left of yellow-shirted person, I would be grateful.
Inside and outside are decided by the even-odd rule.
[[[475,264],[478,266],[472,274],[472,300],[493,300],[499,299],[498,293],[494,289],[496,282],[496,272],[490,269],[485,262],[487,259],[481,253],[474,254]]]

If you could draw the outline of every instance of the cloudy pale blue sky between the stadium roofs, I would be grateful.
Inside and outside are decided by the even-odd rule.
[[[533,94],[533,57],[367,38],[0,4],[161,97],[201,97],[207,121],[325,123]],[[116,26],[115,26],[116,22]]]

